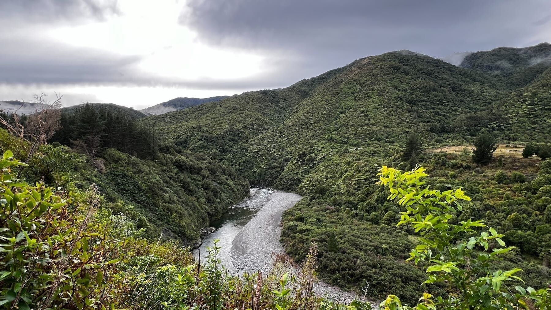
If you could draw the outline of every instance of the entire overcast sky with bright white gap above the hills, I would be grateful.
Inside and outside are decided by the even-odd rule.
[[[0,100],[134,108],[285,87],[394,50],[551,41],[548,0],[0,0]]]

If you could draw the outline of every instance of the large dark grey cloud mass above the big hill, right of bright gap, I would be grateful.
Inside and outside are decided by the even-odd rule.
[[[393,50],[442,57],[532,45],[549,40],[549,32],[538,34],[550,8],[548,1],[190,0],[180,23],[210,44],[294,55],[301,66],[286,68],[298,78]]]

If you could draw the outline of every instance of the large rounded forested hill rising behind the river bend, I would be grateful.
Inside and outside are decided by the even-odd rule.
[[[334,151],[375,145],[369,149],[383,154],[412,129],[435,143],[468,139],[455,134],[456,120],[464,112],[491,110],[506,96],[500,83],[471,70],[392,52],[285,89],[245,93],[140,122],[166,140],[222,157],[253,183],[296,189],[308,170]]]

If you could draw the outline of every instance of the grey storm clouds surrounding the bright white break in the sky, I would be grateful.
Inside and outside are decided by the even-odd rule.
[[[188,0],[179,21],[199,41],[266,61],[249,78],[175,80],[143,73],[141,57],[109,46],[77,48],[39,34],[58,23],[108,21],[124,13],[114,0],[0,0],[0,84],[278,88],[393,50],[442,57],[549,41],[550,8],[547,0]]]

